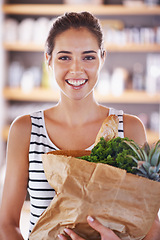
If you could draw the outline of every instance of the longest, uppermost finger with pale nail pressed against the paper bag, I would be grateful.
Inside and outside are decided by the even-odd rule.
[[[103,226],[98,220],[91,216],[87,217],[88,224],[100,233],[102,239],[120,240],[119,237],[109,228]]]

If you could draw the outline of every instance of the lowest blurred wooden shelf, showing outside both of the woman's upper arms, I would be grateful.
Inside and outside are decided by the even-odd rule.
[[[5,142],[8,139],[9,128],[10,128],[10,126],[5,126],[2,129],[2,139]],[[149,144],[153,144],[153,143],[155,143],[156,141],[159,140],[159,134],[157,132],[154,132],[154,131],[151,131],[151,130],[147,129],[146,133],[147,133],[147,139],[148,139]]]

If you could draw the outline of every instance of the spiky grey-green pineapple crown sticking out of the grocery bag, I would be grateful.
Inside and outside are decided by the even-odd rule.
[[[134,141],[125,141],[137,157],[129,155],[136,163],[137,167],[133,167],[136,175],[149,178],[160,182],[160,140],[152,147],[146,142],[140,147]]]

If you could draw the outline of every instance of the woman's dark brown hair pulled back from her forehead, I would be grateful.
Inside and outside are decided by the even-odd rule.
[[[91,33],[95,35],[99,48],[102,52],[101,55],[103,57],[103,33],[98,19],[89,12],[70,12],[58,17],[53,23],[46,41],[46,53],[48,54],[49,58],[51,58],[52,51],[54,49],[55,38],[57,35],[70,28],[78,29],[80,27],[87,28]]]

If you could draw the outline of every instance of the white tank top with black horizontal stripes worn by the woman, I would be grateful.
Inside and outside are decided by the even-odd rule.
[[[119,118],[118,135],[123,138],[123,111],[110,109],[109,115],[115,114]],[[49,206],[55,196],[54,189],[49,185],[41,159],[41,154],[58,150],[50,140],[46,127],[44,112],[39,111],[30,115],[32,122],[29,148],[29,180],[28,192],[30,195],[30,224],[29,234],[43,211]],[[93,145],[87,150],[91,150]]]

